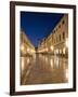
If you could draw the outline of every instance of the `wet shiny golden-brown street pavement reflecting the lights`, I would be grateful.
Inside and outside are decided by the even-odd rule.
[[[21,57],[21,84],[52,84],[68,82],[68,59],[35,54]]]

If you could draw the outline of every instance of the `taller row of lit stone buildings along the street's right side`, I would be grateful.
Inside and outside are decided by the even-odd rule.
[[[65,14],[52,32],[38,45],[38,53],[68,56],[68,15]]]

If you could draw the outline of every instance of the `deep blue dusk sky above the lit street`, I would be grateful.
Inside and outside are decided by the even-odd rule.
[[[39,41],[52,32],[63,15],[60,13],[21,12],[21,29],[37,47]]]

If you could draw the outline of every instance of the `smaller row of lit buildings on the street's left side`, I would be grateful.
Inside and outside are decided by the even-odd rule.
[[[21,31],[21,56],[26,55],[32,55],[35,53],[35,47],[27,38],[27,36],[24,33],[24,31]]]

